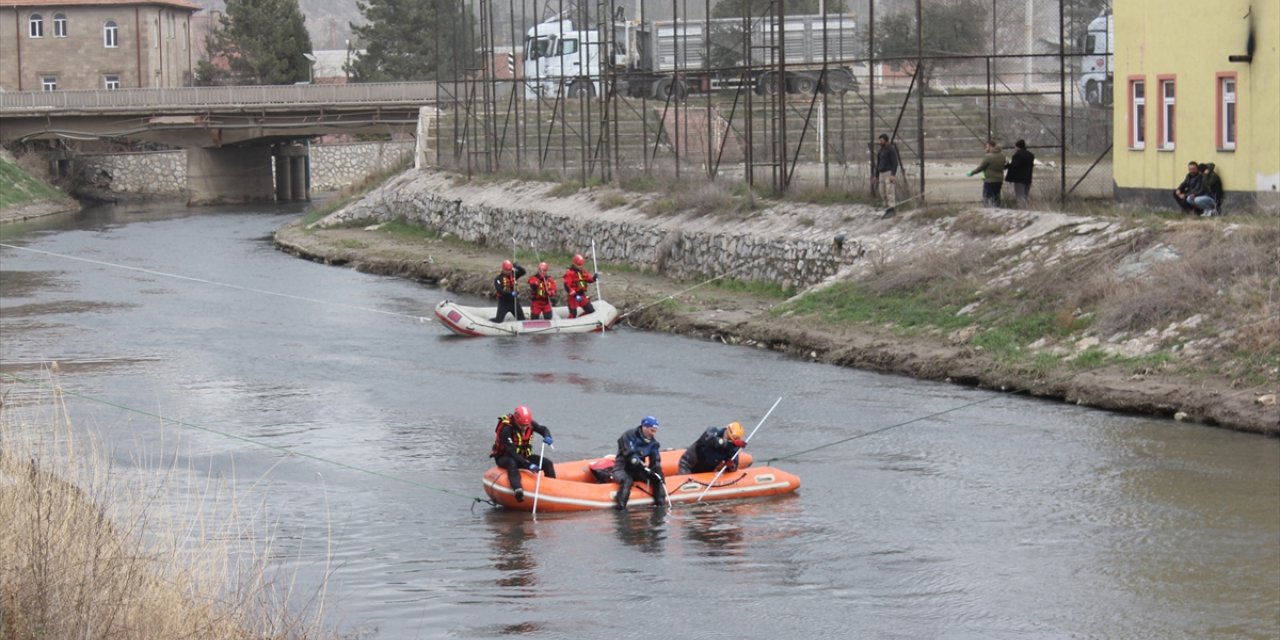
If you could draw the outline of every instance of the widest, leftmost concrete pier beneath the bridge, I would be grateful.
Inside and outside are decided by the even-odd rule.
[[[188,148],[187,187],[188,205],[271,202],[271,148]]]

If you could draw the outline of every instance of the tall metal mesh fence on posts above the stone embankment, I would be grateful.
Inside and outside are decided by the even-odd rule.
[[[1046,206],[1111,197],[1110,37],[1100,31],[1110,0],[849,0],[838,13],[827,0],[803,28],[787,13],[799,3],[739,3],[759,13],[733,19],[708,0],[462,4],[474,18],[463,49],[477,55],[435,69],[436,157],[458,172],[872,198],[884,133],[905,197],[979,200],[966,173],[987,140],[1006,156],[1025,141]],[[550,36],[541,44],[539,24]],[[620,24],[648,29],[653,40],[636,42],[649,50],[620,51],[635,47]],[[588,55],[575,59],[590,69],[576,78],[527,59],[570,40],[594,51],[598,70]],[[652,58],[608,63],[623,54]]]

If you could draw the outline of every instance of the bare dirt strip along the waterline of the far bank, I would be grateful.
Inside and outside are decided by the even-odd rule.
[[[303,229],[301,224],[279,229],[276,244],[308,260],[480,296],[488,294],[495,266],[511,257],[456,241],[403,238],[355,228]],[[532,256],[522,260],[534,262]],[[622,311],[622,321],[641,329],[772,348],[840,366],[1280,435],[1274,394],[1268,403],[1257,389],[1233,389],[1226,380],[1193,381],[1106,367],[1050,380],[1016,378],[973,347],[952,344],[946,337],[904,337],[865,325],[836,326],[812,319],[777,317],[767,311],[782,302],[780,298],[717,287],[685,292],[696,284],[636,271],[605,273],[602,278],[605,298]],[[667,298],[676,303],[662,303]]]

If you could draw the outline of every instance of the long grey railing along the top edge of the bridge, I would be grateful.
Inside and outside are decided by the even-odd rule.
[[[0,111],[435,101],[434,82],[0,92]]]

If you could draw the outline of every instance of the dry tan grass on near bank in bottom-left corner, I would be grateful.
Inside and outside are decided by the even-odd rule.
[[[0,637],[337,637],[315,622],[319,604],[308,621],[287,613],[257,509],[177,465],[129,474],[150,486],[120,486],[125,475],[77,434],[56,390],[44,408],[5,399]]]

